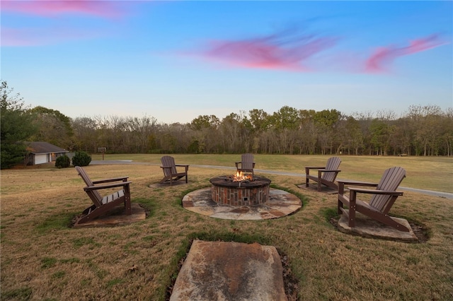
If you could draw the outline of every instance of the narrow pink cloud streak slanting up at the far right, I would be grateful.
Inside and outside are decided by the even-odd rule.
[[[423,52],[441,45],[445,45],[445,42],[441,42],[437,35],[430,35],[429,37],[413,40],[406,47],[380,47],[365,61],[365,72],[379,73],[385,71],[386,66],[398,57]]]

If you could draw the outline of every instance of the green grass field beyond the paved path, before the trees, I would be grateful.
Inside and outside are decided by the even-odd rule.
[[[160,165],[162,155],[105,155],[105,160],[134,160],[134,162]],[[219,165],[234,167],[241,155],[172,155],[176,163],[192,165]],[[255,155],[256,169],[296,172],[304,174],[305,166],[326,164],[330,155]],[[93,160],[102,160],[93,155]],[[340,179],[360,179],[377,182],[384,170],[401,166],[406,178],[401,186],[453,193],[453,158],[447,157],[397,157],[397,156],[340,156]]]

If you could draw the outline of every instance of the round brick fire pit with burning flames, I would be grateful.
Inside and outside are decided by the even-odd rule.
[[[252,175],[213,177],[212,201],[224,206],[253,206],[268,201],[270,179]]]

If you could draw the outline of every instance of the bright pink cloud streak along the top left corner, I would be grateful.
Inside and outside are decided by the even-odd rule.
[[[78,13],[103,18],[117,18],[124,15],[116,1],[1,1],[1,11],[25,13],[34,16],[59,16]]]

